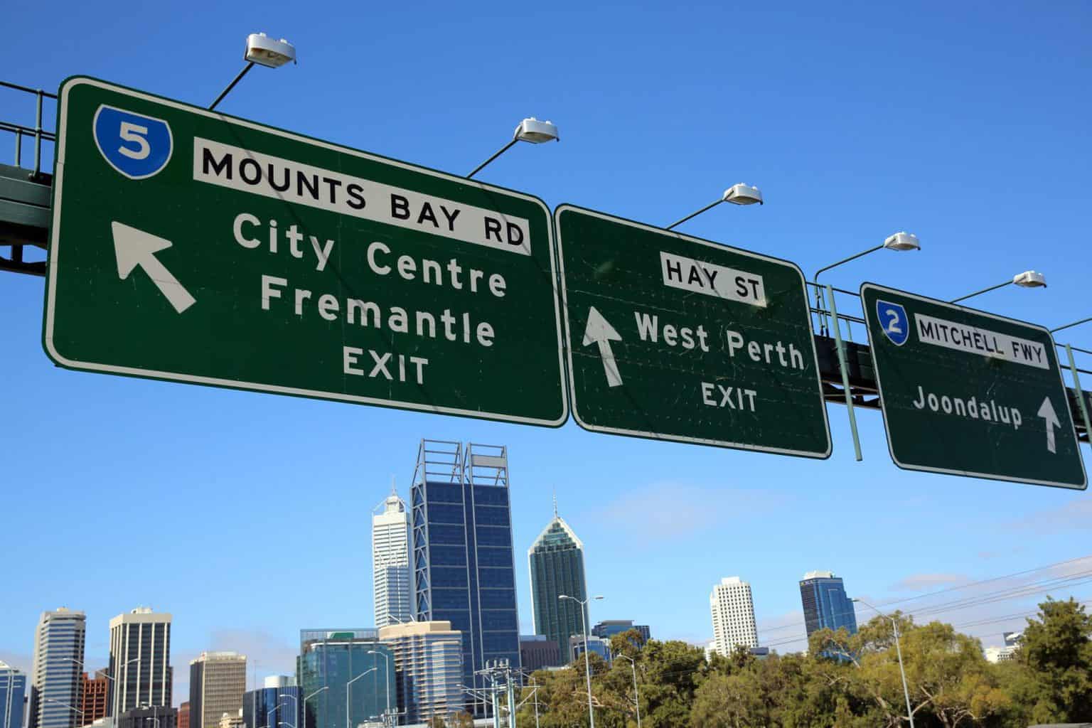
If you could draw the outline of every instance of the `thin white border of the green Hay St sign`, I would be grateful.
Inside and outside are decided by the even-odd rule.
[[[776,263],[779,265],[785,265],[795,270],[800,276],[800,291],[803,294],[802,300],[804,301],[803,314],[806,317],[808,322],[808,339],[811,344],[811,360],[815,363],[816,372],[816,394],[819,397],[819,405],[822,410],[822,421],[823,430],[827,433],[827,450],[824,452],[809,451],[809,450],[790,450],[786,447],[767,447],[763,445],[753,445],[746,442],[731,442],[727,440],[714,440],[710,438],[687,438],[676,434],[665,434],[663,432],[649,432],[644,430],[627,430],[625,428],[616,427],[604,427],[601,425],[590,425],[583,420],[580,416],[580,408],[578,406],[577,397],[577,383],[573,377],[572,368],[572,331],[569,324],[569,293],[566,289],[565,281],[565,255],[562,254],[562,240],[561,240],[561,213],[566,211],[574,211],[585,215],[591,215],[593,217],[598,217],[600,219],[609,220],[612,223],[619,223],[622,225],[628,225],[629,227],[637,228],[639,230],[646,230],[649,232],[657,232],[666,236],[674,236],[678,240],[693,243],[697,246],[704,246],[707,248],[712,248],[720,252],[731,252],[739,255],[745,255],[748,258],[755,258],[769,263]],[[615,215],[608,215],[606,213],[601,213],[595,210],[589,210],[587,207],[581,207],[573,204],[561,204],[554,210],[554,226],[556,228],[555,236],[557,237],[557,255],[558,255],[558,267],[561,272],[561,277],[559,279],[559,285],[561,287],[561,310],[565,317],[565,336],[567,344],[567,353],[569,363],[569,393],[572,398],[572,417],[577,420],[577,423],[583,429],[590,432],[606,432],[609,434],[625,434],[634,438],[644,438],[648,440],[665,440],[669,442],[686,442],[696,445],[714,445],[717,447],[729,447],[732,450],[746,450],[750,452],[762,452],[762,453],[773,453],[778,455],[795,455],[797,457],[808,457],[811,460],[827,460],[830,457],[831,452],[833,452],[833,442],[830,437],[830,418],[827,416],[827,401],[823,397],[822,391],[822,377],[819,372],[819,355],[816,351],[816,339],[811,331],[811,308],[808,303],[808,290],[807,285],[804,283],[804,271],[793,263],[792,261],[781,260],[780,258],[772,258],[770,255],[763,255],[762,253],[751,252],[749,250],[740,250],[739,248],[733,248],[731,246],[724,246],[719,242],[713,242],[712,240],[704,240],[702,238],[695,238],[681,232],[676,232],[675,230],[666,230],[661,227],[655,227],[653,225],[645,225],[643,223],[638,223],[631,219],[626,219],[625,217],[617,217]],[[746,306],[746,305],[744,305]]]

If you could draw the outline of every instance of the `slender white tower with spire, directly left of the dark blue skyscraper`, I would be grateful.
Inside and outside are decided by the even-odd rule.
[[[410,514],[394,487],[371,516],[371,570],[376,589],[376,626],[413,621],[410,583]],[[378,506],[377,506],[378,508]]]

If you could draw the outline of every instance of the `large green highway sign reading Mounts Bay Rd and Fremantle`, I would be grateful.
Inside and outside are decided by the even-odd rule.
[[[567,419],[541,200],[86,77],[57,129],[55,362]]]

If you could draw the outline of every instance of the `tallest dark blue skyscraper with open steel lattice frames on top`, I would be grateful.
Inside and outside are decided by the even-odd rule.
[[[475,671],[494,660],[519,669],[508,450],[422,441],[411,500],[417,619],[463,633],[463,684],[483,687]]]

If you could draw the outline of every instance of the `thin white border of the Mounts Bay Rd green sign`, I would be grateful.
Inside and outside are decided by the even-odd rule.
[[[334,152],[351,154],[353,156],[361,157],[371,162],[378,162],[385,165],[392,165],[395,167],[401,167],[403,169],[410,169],[412,171],[432,175],[444,180],[452,182],[458,182],[461,184],[467,184],[473,187],[479,187],[483,190],[488,190],[492,192],[499,192],[501,194],[521,198],[534,203],[537,203],[546,213],[546,237],[547,244],[549,247],[549,263],[550,263],[550,274],[554,276],[554,319],[557,327],[557,361],[558,371],[560,373],[560,380],[558,382],[559,390],[561,394],[561,414],[557,419],[546,420],[534,417],[520,417],[515,415],[505,415],[502,413],[487,413],[474,409],[460,409],[458,407],[441,407],[437,405],[425,405],[417,404],[413,402],[404,402],[401,399],[384,399],[382,397],[367,397],[352,394],[340,394],[337,392],[325,392],[322,390],[305,390],[292,386],[280,386],[275,384],[263,384],[258,382],[242,382],[229,379],[219,379],[215,377],[198,377],[193,374],[182,374],[178,372],[166,372],[166,371],[155,371],[150,369],[139,369],[135,367],[119,367],[114,365],[102,365],[90,361],[76,361],[74,359],[69,359],[62,356],[54,347],[54,314],[56,309],[56,295],[57,295],[57,261],[60,258],[60,219],[61,219],[61,189],[63,187],[63,176],[64,176],[64,154],[66,154],[66,142],[68,140],[68,96],[71,91],[78,86],[90,85],[97,88],[104,88],[118,94],[131,96],[139,98],[141,100],[151,102],[154,104],[161,104],[164,106],[169,106],[176,109],[182,109],[190,114],[197,114],[205,117],[212,117],[221,121],[226,121],[239,127],[246,127],[247,129],[253,129],[257,131],[276,134],[284,139],[288,139],[295,142],[300,142],[304,144],[309,144],[312,146],[319,146]],[[537,425],[542,427],[553,427],[559,428],[566,423],[569,419],[569,397],[566,391],[567,378],[565,373],[565,354],[563,346],[565,339],[561,331],[561,313],[559,310],[560,301],[557,296],[557,255],[555,251],[554,241],[554,225],[553,217],[550,215],[549,205],[544,201],[539,200],[534,195],[530,195],[523,192],[517,192],[514,190],[508,190],[501,187],[496,187],[492,184],[485,184],[474,179],[466,179],[465,177],[456,177],[454,175],[449,175],[447,172],[441,172],[435,169],[429,169],[427,167],[420,167],[418,165],[412,165],[404,162],[399,162],[396,159],[389,159],[383,156],[376,154],[369,154],[367,152],[361,152],[359,150],[354,150],[352,147],[342,146],[340,144],[332,144],[330,142],[323,142],[321,140],[311,139],[302,134],[295,134],[282,129],[276,129],[274,127],[268,127],[265,124],[256,123],[252,121],[247,121],[244,119],[237,119],[224,114],[217,114],[215,111],[210,111],[207,109],[202,109],[200,107],[191,106],[189,104],[182,104],[169,98],[163,98],[154,94],[147,94],[144,92],[135,91],[133,88],[127,88],[126,86],[119,86],[117,84],[108,83],[106,81],[100,81],[98,79],[93,79],[91,76],[71,76],[66,79],[61,84],[61,89],[58,98],[58,109],[59,117],[57,120],[57,148],[55,152],[55,175],[54,175],[54,194],[52,194],[52,223],[49,227],[49,251],[48,251],[48,265],[47,265],[47,288],[46,288],[46,317],[45,324],[43,326],[43,345],[46,349],[46,354],[49,358],[62,367],[69,369],[75,369],[81,371],[97,371],[105,372],[109,374],[122,374],[127,377],[136,377],[140,379],[153,379],[163,380],[168,382],[185,382],[188,384],[204,384],[210,386],[219,386],[232,390],[245,390],[252,392],[264,392],[270,394],[287,394],[293,396],[308,397],[312,399],[327,399],[334,402],[347,402],[354,404],[366,404],[366,405],[378,405],[381,407],[391,407],[394,409],[406,409],[414,411],[426,411],[441,415],[455,415],[460,417],[470,417],[473,419],[486,419],[495,420],[501,422],[518,422],[521,425]]]

